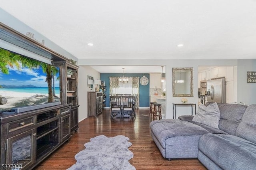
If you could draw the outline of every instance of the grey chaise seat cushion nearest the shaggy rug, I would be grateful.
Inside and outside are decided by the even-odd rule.
[[[165,148],[165,140],[174,136],[203,135],[208,133],[204,128],[179,119],[161,119],[150,123],[152,133]]]

